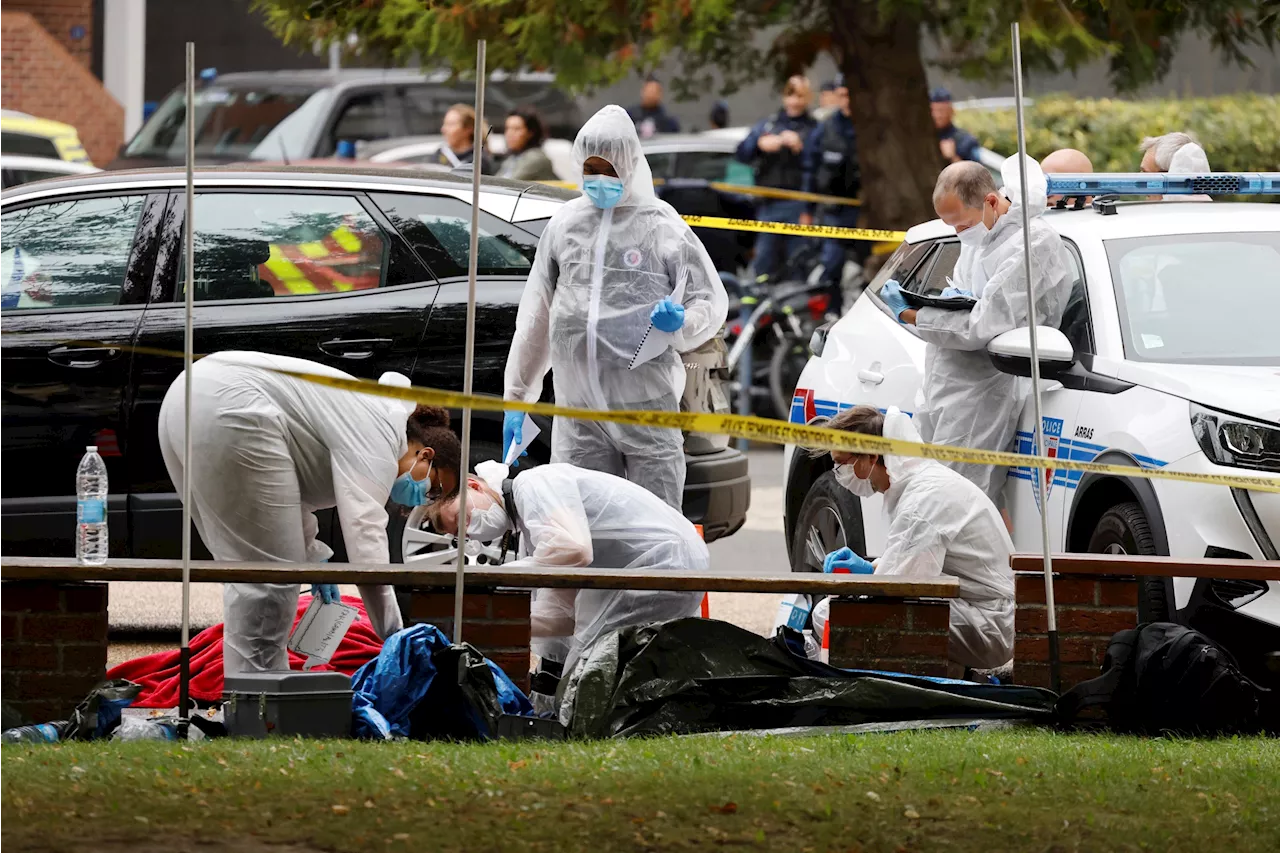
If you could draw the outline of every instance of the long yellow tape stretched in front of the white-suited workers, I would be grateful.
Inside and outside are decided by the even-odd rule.
[[[893,456],[913,456],[918,459],[933,459],[940,462],[968,462],[975,465],[1001,465],[1007,467],[1034,467],[1050,469],[1053,471],[1084,471],[1089,474],[1115,474],[1119,476],[1138,476],[1146,479],[1178,480],[1181,483],[1199,483],[1204,485],[1226,485],[1238,489],[1251,489],[1254,492],[1271,492],[1280,494],[1280,478],[1275,476],[1240,476],[1235,474],[1193,474],[1190,471],[1170,471],[1162,467],[1130,467],[1128,465],[1108,465],[1105,462],[1080,462],[1065,459],[1047,459],[1042,456],[1023,456],[1002,451],[983,451],[968,447],[948,447],[946,444],[925,444],[922,442],[908,442],[896,438],[881,438],[849,433],[828,426],[809,426],[791,424],[768,418],[755,418],[750,415],[713,415],[676,411],[598,411],[594,409],[576,409],[572,406],[559,406],[556,403],[526,403],[485,394],[463,394],[453,391],[440,391],[436,388],[394,387],[381,386],[370,379],[339,379],[335,377],[321,377],[310,373],[297,373],[292,370],[276,370],[276,373],[312,382],[342,391],[376,394],[379,397],[392,397],[394,400],[407,400],[425,403],[428,406],[445,406],[451,409],[474,409],[479,411],[524,411],[531,415],[547,415],[552,418],[576,418],[579,420],[603,420],[614,424],[628,424],[632,426],[659,426],[681,429],[698,433],[716,433],[719,435],[732,435],[750,441],[771,442],[774,444],[796,444],[799,447],[844,451],[849,453],[874,453]]]

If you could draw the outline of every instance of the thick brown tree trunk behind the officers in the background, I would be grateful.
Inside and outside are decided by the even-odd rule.
[[[877,0],[831,0],[832,49],[849,86],[863,179],[863,225],[905,229],[933,219],[942,168],[920,59],[920,22],[881,23]]]

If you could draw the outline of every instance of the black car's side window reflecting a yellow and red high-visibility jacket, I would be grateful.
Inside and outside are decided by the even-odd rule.
[[[383,283],[387,236],[356,199],[198,193],[195,207],[197,300],[344,293]]]

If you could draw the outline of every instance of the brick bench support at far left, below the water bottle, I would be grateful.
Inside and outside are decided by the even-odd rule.
[[[0,699],[65,720],[106,675],[106,584],[0,581]]]

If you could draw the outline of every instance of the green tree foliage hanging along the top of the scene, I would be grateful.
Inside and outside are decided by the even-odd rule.
[[[310,45],[356,33],[366,50],[460,73],[488,40],[493,69],[554,69],[570,88],[613,83],[677,58],[677,88],[732,90],[762,76],[806,68],[819,54],[837,64],[832,35],[841,14],[906,17],[942,47],[941,65],[968,77],[1007,77],[1009,26],[1023,27],[1028,70],[1073,70],[1107,58],[1117,91],[1158,81],[1178,41],[1199,35],[1233,61],[1274,49],[1280,0],[255,0],[287,42]],[[868,22],[874,24],[876,22]],[[773,33],[760,44],[760,32]]]

